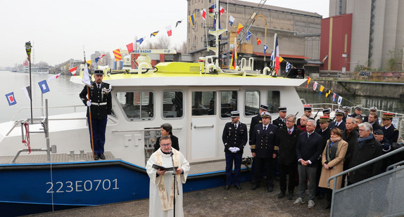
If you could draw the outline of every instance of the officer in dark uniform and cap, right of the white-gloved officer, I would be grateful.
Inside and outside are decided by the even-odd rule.
[[[272,192],[274,190],[273,183],[273,163],[274,158],[277,157],[278,147],[275,146],[275,134],[277,126],[270,124],[271,115],[269,112],[261,113],[263,124],[254,126],[253,138],[251,139],[251,153],[255,161],[255,170],[253,171],[253,185],[251,190],[258,187],[261,179],[261,171],[265,167],[267,174],[267,190]]]

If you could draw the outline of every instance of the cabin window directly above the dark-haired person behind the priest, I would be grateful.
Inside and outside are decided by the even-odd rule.
[[[184,112],[182,96],[182,92],[179,91],[163,92],[163,117],[182,117]]]

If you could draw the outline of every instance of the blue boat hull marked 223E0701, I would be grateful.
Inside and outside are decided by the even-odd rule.
[[[149,197],[146,170],[120,160],[7,165],[0,166],[0,173],[0,210],[6,216]],[[249,177],[249,173],[244,173],[242,181]],[[224,179],[223,171],[189,176],[184,192],[215,188],[224,185]]]

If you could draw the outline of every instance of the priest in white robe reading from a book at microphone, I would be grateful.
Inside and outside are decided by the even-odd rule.
[[[177,174],[177,184],[174,183],[172,168],[172,159],[174,159],[175,171]],[[163,166],[164,169],[155,169],[157,166]],[[175,197],[175,216],[184,216],[182,209],[182,183],[187,180],[189,172],[189,162],[181,152],[171,147],[169,136],[160,138],[160,148],[151,154],[146,165],[146,171],[150,178],[149,195],[149,216],[174,216],[174,197]],[[173,191],[175,188],[175,192]],[[177,194],[177,188],[179,195]]]

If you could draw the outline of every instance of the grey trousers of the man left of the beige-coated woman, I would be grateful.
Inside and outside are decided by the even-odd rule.
[[[317,166],[302,166],[298,164],[298,173],[299,173],[299,197],[304,198],[305,188],[307,186],[306,177],[308,178],[308,199],[314,199],[315,190],[317,188],[316,185],[316,173]]]

